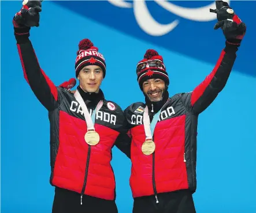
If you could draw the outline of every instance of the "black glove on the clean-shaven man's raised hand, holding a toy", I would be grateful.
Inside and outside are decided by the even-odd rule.
[[[39,26],[42,1],[23,1],[23,7],[13,17],[14,35],[29,35],[31,26]]]

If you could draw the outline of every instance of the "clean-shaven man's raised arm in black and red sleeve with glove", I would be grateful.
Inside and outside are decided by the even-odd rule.
[[[28,1],[13,18],[14,36],[17,41],[18,54],[23,68],[24,78],[33,90],[35,96],[48,110],[58,107],[58,92],[53,82],[40,68],[31,41],[29,30],[31,26],[39,26],[40,1]]]

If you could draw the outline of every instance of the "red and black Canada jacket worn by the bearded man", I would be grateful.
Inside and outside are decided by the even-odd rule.
[[[131,133],[133,197],[157,195],[179,189],[196,190],[196,135],[198,115],[217,97],[227,83],[237,47],[226,44],[212,73],[192,92],[179,93],[162,101],[160,119],[155,126],[155,152],[142,153],[146,139],[143,113],[146,104],[136,102],[125,109]],[[153,102],[151,103],[153,104]],[[159,111],[149,107],[150,119]],[[153,112],[151,112],[153,111]]]

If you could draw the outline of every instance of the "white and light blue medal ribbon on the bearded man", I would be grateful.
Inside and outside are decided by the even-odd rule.
[[[168,101],[169,101],[169,98],[166,102],[168,102]],[[166,104],[166,102],[165,102],[165,104]],[[162,106],[162,108],[165,106],[165,104]],[[157,125],[157,121],[159,119],[162,108],[157,113],[155,113],[155,115],[154,115],[154,117],[153,117],[153,119],[150,123],[149,108],[147,106],[145,107],[145,111],[143,113],[143,124],[144,124],[144,131],[145,131],[145,135],[146,135],[146,140],[153,140],[155,125]]]

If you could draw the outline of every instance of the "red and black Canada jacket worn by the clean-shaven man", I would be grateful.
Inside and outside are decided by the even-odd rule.
[[[99,133],[100,142],[89,146],[84,140],[86,121],[74,94],[51,82],[40,68],[28,37],[19,39],[17,35],[16,40],[24,77],[49,111],[51,185],[81,195],[114,200],[115,178],[110,165],[112,147],[116,145],[125,154],[129,154],[130,147],[128,144],[127,151],[127,144],[123,143],[127,129],[122,109],[116,103],[105,100],[102,92],[98,94],[99,100],[103,99],[103,106],[95,120],[95,131]],[[88,103],[88,100],[84,101]],[[90,113],[96,104],[89,101]]]

